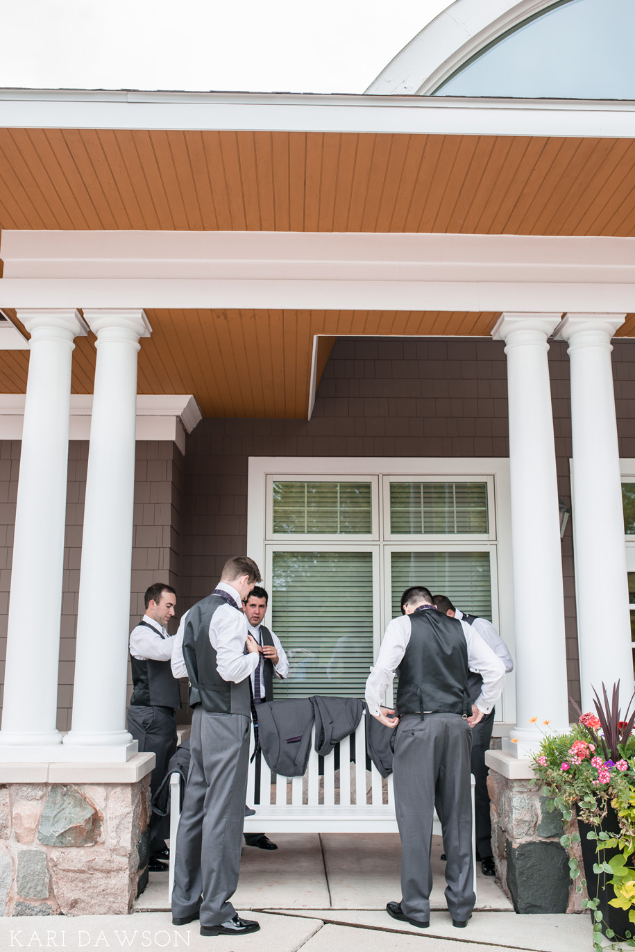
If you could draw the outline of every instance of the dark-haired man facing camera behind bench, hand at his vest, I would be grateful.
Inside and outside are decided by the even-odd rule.
[[[247,615],[247,630],[253,640],[260,645],[260,664],[251,675],[253,700],[256,705],[263,701],[273,701],[273,678],[283,681],[288,676],[288,661],[285,649],[280,639],[273,631],[262,624],[267,614],[268,593],[260,585],[255,585],[243,602]],[[262,769],[262,759],[258,754],[256,771]],[[257,776],[257,775],[256,775]],[[277,849],[265,833],[245,833],[245,843],[248,846],[258,846],[260,849]]]

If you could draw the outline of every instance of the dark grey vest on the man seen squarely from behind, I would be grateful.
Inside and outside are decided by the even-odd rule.
[[[410,640],[397,668],[397,713],[472,712],[467,687],[467,645],[461,623],[434,608],[415,611]]]

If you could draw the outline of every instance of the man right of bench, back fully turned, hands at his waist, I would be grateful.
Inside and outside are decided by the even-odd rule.
[[[427,928],[432,888],[430,845],[436,806],[446,847],[446,902],[452,924],[471,916],[471,728],[496,704],[505,667],[470,625],[448,618],[432,605],[423,585],[404,592],[405,614],[388,624],[366,685],[368,710],[396,727],[395,812],[402,842],[402,900],[388,902],[393,919]],[[468,669],[483,677],[476,704],[469,702]],[[396,712],[382,707],[395,670]],[[396,716],[395,716],[396,713]]]

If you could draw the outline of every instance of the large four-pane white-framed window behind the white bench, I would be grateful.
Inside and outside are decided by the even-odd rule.
[[[506,460],[249,460],[248,553],[262,560],[289,675],[276,698],[364,696],[409,586],[427,585],[510,633]],[[508,520],[507,520],[508,522]],[[506,569],[504,569],[504,575]],[[513,688],[499,721],[513,717]]]

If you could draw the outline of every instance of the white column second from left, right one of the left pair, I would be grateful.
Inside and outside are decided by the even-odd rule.
[[[128,759],[126,683],[139,338],[143,310],[84,310],[97,335],[77,609],[72,724],[64,744]]]

